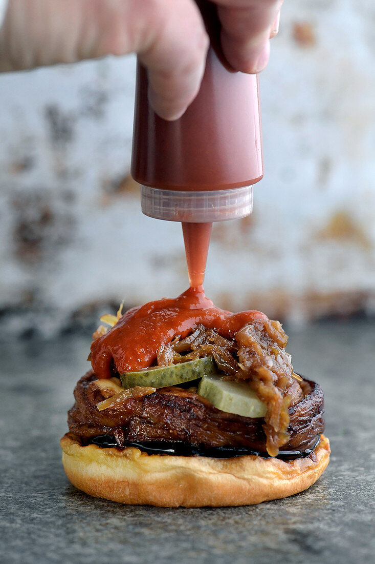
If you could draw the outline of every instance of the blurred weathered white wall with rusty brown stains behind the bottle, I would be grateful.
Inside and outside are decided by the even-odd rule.
[[[261,74],[254,213],[215,224],[206,293],[301,324],[375,312],[375,5],[286,0]],[[130,178],[135,58],[0,76],[3,337],[91,331],[188,284],[181,226]]]

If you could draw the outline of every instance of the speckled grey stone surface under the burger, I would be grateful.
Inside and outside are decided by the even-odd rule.
[[[0,561],[374,562],[375,324],[289,331],[298,372],[323,385],[331,463],[299,495],[222,509],[127,507],[70,486],[60,462],[89,338],[0,345]]]

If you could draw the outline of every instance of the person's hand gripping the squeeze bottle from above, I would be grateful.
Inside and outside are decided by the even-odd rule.
[[[260,72],[282,0],[215,3],[227,60],[235,70]],[[198,93],[208,45],[194,0],[9,0],[0,70],[136,52],[148,68],[155,111],[175,120]]]

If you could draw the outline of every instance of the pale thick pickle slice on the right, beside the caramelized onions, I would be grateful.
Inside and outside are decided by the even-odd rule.
[[[257,397],[246,382],[224,382],[220,376],[203,376],[198,394],[213,406],[227,413],[243,417],[264,417],[266,405]]]

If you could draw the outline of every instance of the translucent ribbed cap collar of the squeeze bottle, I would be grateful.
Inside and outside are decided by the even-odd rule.
[[[252,212],[253,187],[185,192],[142,186],[141,206],[145,215],[167,221],[211,223],[240,219]]]

